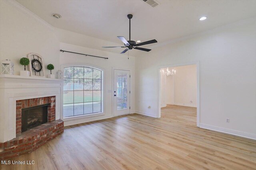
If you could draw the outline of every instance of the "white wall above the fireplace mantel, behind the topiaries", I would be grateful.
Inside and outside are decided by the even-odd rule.
[[[46,66],[53,64],[52,73],[55,74],[60,65],[59,48],[52,26],[16,1],[0,0],[0,61],[10,59],[15,75],[24,70],[19,61],[28,53],[38,53],[44,58],[46,75],[50,74]]]

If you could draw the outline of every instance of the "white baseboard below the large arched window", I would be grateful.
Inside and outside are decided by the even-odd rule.
[[[68,120],[68,121],[64,121],[64,126],[70,126],[70,125],[76,125],[79,123],[86,123],[86,122],[90,122],[90,121],[108,119],[111,117],[113,117],[113,116],[112,115],[101,115],[101,116],[95,116],[95,117],[86,117],[86,118],[82,118],[82,119]]]

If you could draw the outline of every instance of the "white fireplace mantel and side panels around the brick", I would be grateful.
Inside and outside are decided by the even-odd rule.
[[[60,119],[63,80],[0,74],[0,142],[16,137],[16,100],[56,96],[55,119]]]

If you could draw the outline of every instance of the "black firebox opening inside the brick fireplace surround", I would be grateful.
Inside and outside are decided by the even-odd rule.
[[[48,106],[44,104],[40,106],[28,107],[22,109],[21,113],[21,132],[27,131],[33,127],[37,127],[48,122]]]

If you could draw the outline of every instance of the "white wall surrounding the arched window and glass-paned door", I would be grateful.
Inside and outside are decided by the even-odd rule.
[[[81,35],[83,36],[83,35]],[[86,40],[85,40],[86,41]],[[127,58],[126,55],[121,55],[117,53],[112,52],[106,52],[101,51],[97,49],[90,49],[86,47],[81,47],[77,45],[71,45],[67,43],[60,43],[60,48],[65,51],[74,51],[78,53],[85,53],[85,54],[91,54],[96,55],[100,57],[108,57],[109,59],[99,59],[95,57],[86,57],[84,55],[78,55],[73,53],[60,53],[60,64],[71,64],[71,63],[82,63],[82,64],[90,64],[94,66],[98,66],[100,68],[104,69],[104,92],[105,92],[105,99],[104,99],[104,108],[105,108],[105,115],[99,115],[95,117],[88,117],[83,119],[76,119],[76,120],[70,120],[65,121],[64,125],[72,125],[77,123],[83,123],[88,121],[94,121],[99,119],[105,119],[113,117],[112,113],[112,92],[108,92],[108,90],[112,90],[112,67],[115,68],[130,68],[130,89],[131,89],[131,95],[130,95],[130,113],[134,113],[135,108],[135,58],[130,56],[130,59]]]

